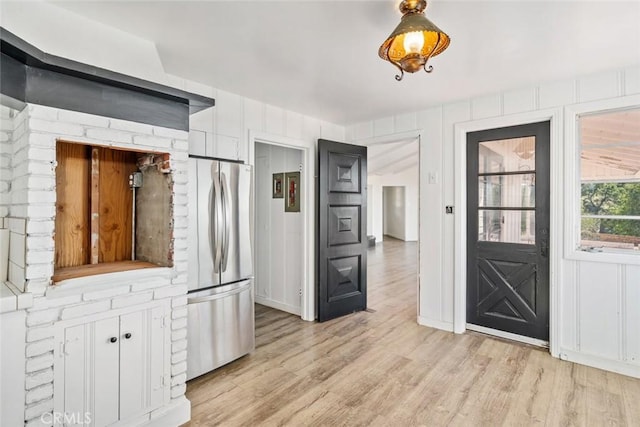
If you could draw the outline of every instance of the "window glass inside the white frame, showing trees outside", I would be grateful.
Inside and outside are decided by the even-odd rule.
[[[578,116],[580,246],[640,250],[640,106]]]

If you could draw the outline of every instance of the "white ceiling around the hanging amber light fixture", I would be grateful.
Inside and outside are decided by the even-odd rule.
[[[640,63],[640,1],[433,0],[451,37],[394,79],[385,1],[58,1],[156,43],[165,71],[337,124]]]

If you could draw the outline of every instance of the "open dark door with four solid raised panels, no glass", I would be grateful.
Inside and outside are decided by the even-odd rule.
[[[367,308],[367,147],[318,140],[318,321]]]

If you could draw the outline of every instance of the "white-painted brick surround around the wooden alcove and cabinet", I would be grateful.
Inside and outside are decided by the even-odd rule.
[[[13,117],[12,117],[13,116]],[[167,301],[171,352],[167,370],[172,399],[186,391],[187,292],[187,158],[188,133],[108,117],[28,105],[20,113],[0,110],[0,217],[23,236],[14,254],[16,286],[34,295],[27,310],[25,348],[25,421],[42,425],[42,414],[53,411],[54,351],[57,322],[105,313],[123,307]],[[6,129],[5,129],[6,128]],[[173,176],[173,268],[149,271],[131,280],[127,272],[51,284],[54,265],[55,144],[58,138],[85,144],[169,153]],[[18,254],[18,252],[21,252]],[[107,283],[108,282],[108,283]],[[169,303],[170,302],[170,303]],[[46,418],[46,417],[45,417]]]

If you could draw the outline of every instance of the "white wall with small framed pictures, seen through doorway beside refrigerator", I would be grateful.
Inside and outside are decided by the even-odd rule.
[[[272,198],[272,176],[298,171],[302,160],[300,150],[256,144],[256,302],[296,315],[303,286],[303,216],[285,212],[284,198]]]

